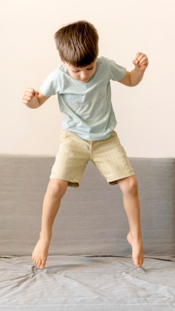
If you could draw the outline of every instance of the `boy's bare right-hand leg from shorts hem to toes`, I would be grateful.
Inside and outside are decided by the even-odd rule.
[[[127,240],[132,247],[132,260],[136,267],[141,267],[144,259],[137,180],[134,176],[123,178],[118,180],[118,185],[123,193],[123,205],[130,228]]]

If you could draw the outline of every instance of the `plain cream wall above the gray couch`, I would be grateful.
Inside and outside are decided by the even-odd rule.
[[[175,156],[174,0],[0,0],[0,154],[55,155],[62,115],[57,96],[39,109],[21,103],[59,65],[54,33],[86,19],[100,36],[99,56],[132,70],[149,67],[133,88],[112,82],[117,133],[128,156]]]

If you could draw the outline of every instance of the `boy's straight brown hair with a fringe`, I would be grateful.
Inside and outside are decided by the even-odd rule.
[[[88,66],[98,56],[98,32],[87,21],[80,20],[60,28],[54,38],[60,58],[74,68]]]

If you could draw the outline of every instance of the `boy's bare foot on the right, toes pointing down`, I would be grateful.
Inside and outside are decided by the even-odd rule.
[[[137,268],[140,268],[143,264],[143,246],[142,246],[142,239],[135,240],[131,233],[127,234],[127,241],[131,244],[132,247],[132,260]]]

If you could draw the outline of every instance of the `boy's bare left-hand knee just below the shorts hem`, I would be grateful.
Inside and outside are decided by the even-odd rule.
[[[61,198],[66,189],[68,182],[60,179],[51,179],[48,184],[47,192],[52,198]]]

